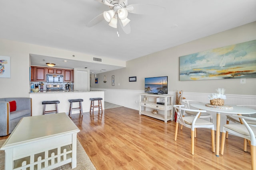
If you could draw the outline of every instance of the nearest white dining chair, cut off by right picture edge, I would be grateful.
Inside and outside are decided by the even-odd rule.
[[[242,137],[250,141],[251,158],[252,158],[252,170],[256,170],[256,127],[249,125],[248,121],[256,121],[254,117],[246,117],[241,115],[232,115],[233,117],[240,118],[243,124],[226,124],[223,126],[221,149],[220,154],[224,154],[224,145],[226,139],[226,132],[232,133],[238,137]]]

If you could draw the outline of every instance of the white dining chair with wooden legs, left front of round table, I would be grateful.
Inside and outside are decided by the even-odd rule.
[[[212,135],[212,152],[215,152],[215,143],[214,143],[214,124],[210,121],[204,120],[199,118],[198,116],[201,113],[205,113],[205,110],[194,110],[194,109],[185,109],[182,108],[184,105],[174,105],[173,106],[176,113],[177,113],[177,120],[176,120],[176,128],[175,128],[175,136],[174,141],[177,140],[178,135],[178,126],[179,124],[188,127],[191,129],[191,154],[194,155],[194,129],[195,128],[211,128],[211,135]],[[195,116],[182,116],[182,111],[193,111],[197,114]]]

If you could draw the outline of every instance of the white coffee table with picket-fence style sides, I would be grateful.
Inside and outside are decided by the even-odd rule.
[[[75,168],[79,131],[66,113],[22,118],[1,147],[5,170],[48,170],[69,162]]]

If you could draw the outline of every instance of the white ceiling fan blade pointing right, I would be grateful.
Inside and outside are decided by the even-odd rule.
[[[134,14],[155,15],[164,13],[165,8],[151,4],[131,4],[126,7],[128,12]]]

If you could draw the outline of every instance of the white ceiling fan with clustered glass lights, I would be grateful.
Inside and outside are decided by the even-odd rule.
[[[119,27],[124,33],[131,32],[130,20],[128,19],[128,12],[134,14],[160,14],[165,8],[151,4],[131,4],[128,5],[128,0],[96,0],[102,4],[109,6],[110,10],[104,11],[102,14],[93,18],[86,24],[87,27],[92,27],[102,20],[108,22],[110,27],[117,28],[117,35],[119,37]]]

